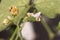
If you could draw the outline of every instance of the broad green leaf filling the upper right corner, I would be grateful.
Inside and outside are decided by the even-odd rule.
[[[48,17],[60,13],[60,0],[35,0],[36,8]]]

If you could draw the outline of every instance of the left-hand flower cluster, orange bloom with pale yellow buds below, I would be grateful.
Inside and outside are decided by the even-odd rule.
[[[16,6],[11,6],[9,11],[11,12],[11,15],[13,15],[13,16],[16,16],[18,14],[18,9],[17,9]],[[7,16],[7,18],[5,18],[3,20],[3,24],[8,25],[9,22],[11,22],[12,19],[13,19],[12,16]]]

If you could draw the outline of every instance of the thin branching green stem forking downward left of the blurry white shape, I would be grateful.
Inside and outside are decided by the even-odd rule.
[[[30,8],[30,6],[27,8],[27,11],[29,10],[29,8]],[[21,14],[21,15],[23,15],[23,16],[22,16],[22,17],[18,17],[20,20],[17,20],[17,21],[18,21],[17,24],[19,24],[19,21],[21,21],[21,19],[26,16],[27,11],[24,10],[24,12],[23,12],[24,15]],[[21,16],[21,15],[19,15],[19,16]],[[15,35],[16,35],[16,33],[17,33],[17,30],[18,30],[18,33],[20,32],[19,35],[20,35],[20,38],[21,38],[21,40],[22,40],[22,34],[21,34],[21,31],[19,30],[19,25],[17,25],[17,28],[15,29],[14,33],[12,34],[10,40],[13,40],[13,38],[15,37]],[[18,38],[19,35],[17,35],[16,39]]]

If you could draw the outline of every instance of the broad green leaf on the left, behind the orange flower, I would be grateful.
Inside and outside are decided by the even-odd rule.
[[[24,1],[24,2],[23,2]],[[9,8],[11,6],[16,6],[19,9],[19,14],[15,22],[22,16],[22,12],[25,9],[25,5],[28,4],[28,0],[1,0],[0,3],[0,31],[4,30],[7,26],[3,25],[2,22],[7,16],[11,15]]]

